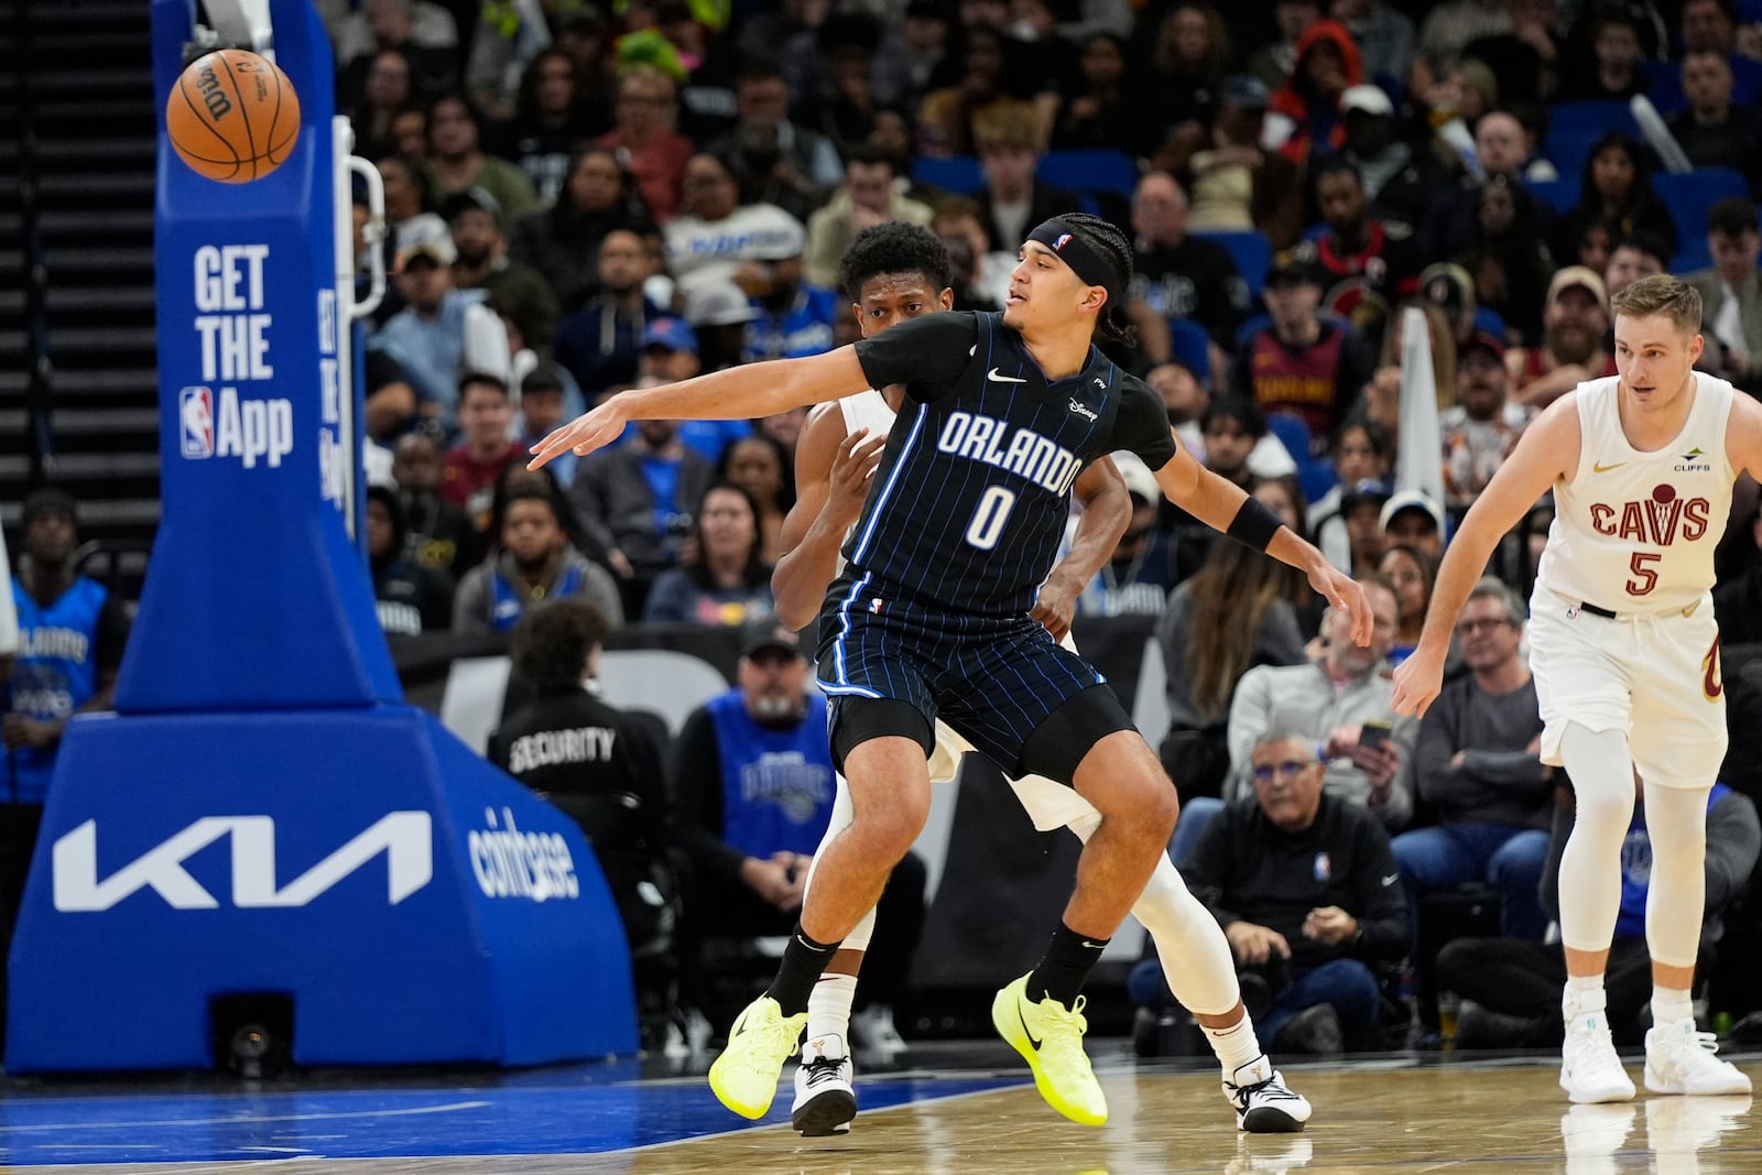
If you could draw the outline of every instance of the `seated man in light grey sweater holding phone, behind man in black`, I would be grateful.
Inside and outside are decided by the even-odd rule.
[[[1269,731],[1297,731],[1316,745],[1329,794],[1369,807],[1390,831],[1401,831],[1413,817],[1418,722],[1388,708],[1394,684],[1385,676],[1396,639],[1396,590],[1385,580],[1360,583],[1376,618],[1369,648],[1351,643],[1351,620],[1330,608],[1322,622],[1320,661],[1258,666],[1237,684],[1230,703],[1226,802],[1247,794],[1247,763],[1258,740]]]

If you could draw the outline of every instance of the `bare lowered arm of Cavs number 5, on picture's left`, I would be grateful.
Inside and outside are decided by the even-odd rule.
[[[1413,655],[1396,668],[1396,713],[1425,717],[1438,696],[1450,631],[1470,590],[1487,569],[1487,557],[1547,490],[1579,469],[1579,395],[1566,393],[1524,430],[1512,454],[1480,491],[1450,539],[1433,585],[1425,627]]]

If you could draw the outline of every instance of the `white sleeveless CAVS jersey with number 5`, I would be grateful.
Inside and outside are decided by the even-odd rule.
[[[1579,384],[1579,469],[1554,483],[1536,587],[1616,613],[1681,611],[1713,588],[1713,548],[1732,507],[1732,386],[1695,372],[1683,432],[1640,453],[1621,432],[1618,384]]]

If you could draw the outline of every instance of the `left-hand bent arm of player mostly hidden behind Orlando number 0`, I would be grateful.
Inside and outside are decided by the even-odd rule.
[[[777,618],[803,629],[819,611],[839,573],[839,548],[863,513],[869,481],[881,463],[886,433],[844,432],[844,412],[816,409],[795,446],[796,499],[782,520],[784,555],[772,571]]]

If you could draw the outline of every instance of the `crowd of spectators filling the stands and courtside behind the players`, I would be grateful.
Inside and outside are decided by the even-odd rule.
[[[596,784],[513,763],[546,722],[617,731],[608,759],[636,747],[617,772],[668,775],[622,786],[627,810],[564,802],[604,853],[633,854],[633,884],[677,868],[700,907],[684,925],[752,934],[800,902],[830,761],[802,647],[766,622],[805,414],[640,421],[539,472],[527,446],[627,388],[853,340],[849,291],[832,285],[863,227],[929,225],[955,261],[955,308],[996,310],[1024,234],[1082,208],[1135,241],[1138,340],[1112,358],[1374,608],[1357,648],[1300,576],[1122,465],[1133,520],[1080,615],[1154,618],[1161,754],[1184,800],[1172,851],[1255,976],[1272,1046],[1383,1039],[1404,958],[1505,1016],[1501,1041],[1558,1032],[1545,939],[1572,789],[1540,763],[1522,639],[1545,500],[1477,587],[1424,721],[1392,715],[1388,669],[1452,527],[1526,425],[1614,373],[1614,292],[1679,271],[1706,298],[1706,368],[1762,393],[1762,4],[1277,0],[1270,19],[1209,0],[319,7],[338,109],[386,188],[382,231],[365,196],[356,208],[358,250],[382,248],[391,273],[366,366],[381,620],[515,634],[541,698],[495,754],[552,798]],[[1630,113],[1640,97],[1656,118]],[[1394,484],[1404,321],[1429,335],[1441,500]],[[1762,639],[1757,509],[1741,484],[1716,594],[1729,657]],[[58,511],[70,525],[70,506],[26,507],[21,608],[44,595]],[[548,617],[557,599],[592,608]],[[671,752],[592,699],[590,647],[652,622],[752,632],[740,685]],[[120,641],[102,632],[74,708],[102,698]],[[541,664],[566,638],[580,664]],[[1758,691],[1729,696],[1732,726],[1757,726]],[[53,745],[51,728],[9,717],[12,761]],[[1709,876],[1725,870],[1707,886],[1709,955],[1758,847],[1757,780],[1727,784],[1709,810]],[[751,810],[729,809],[737,794]],[[11,803],[37,800],[16,786]],[[1642,900],[1642,812],[1633,837]],[[1464,884],[1489,886],[1499,942],[1526,946],[1415,958],[1427,895]],[[1618,955],[1644,957],[1626,895],[1623,911]],[[890,950],[909,951],[913,918],[885,913],[883,928],[906,923]],[[643,925],[633,942],[659,934]],[[883,972],[876,999],[900,983]],[[1159,978],[1133,992],[1172,1015]]]

